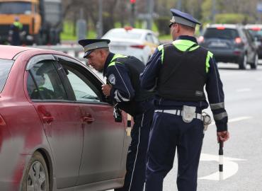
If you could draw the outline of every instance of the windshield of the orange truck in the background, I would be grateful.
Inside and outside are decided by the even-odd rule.
[[[29,2],[2,2],[0,3],[1,14],[30,14],[31,3]]]

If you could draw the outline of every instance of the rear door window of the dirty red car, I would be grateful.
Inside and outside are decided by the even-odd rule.
[[[62,81],[50,60],[38,62],[29,70],[27,89],[33,100],[67,100]]]

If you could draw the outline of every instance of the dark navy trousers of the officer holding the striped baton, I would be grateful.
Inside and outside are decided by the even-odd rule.
[[[163,180],[178,153],[179,191],[197,190],[198,163],[203,144],[203,121],[183,122],[181,116],[154,112],[147,152],[146,191],[163,190]]]

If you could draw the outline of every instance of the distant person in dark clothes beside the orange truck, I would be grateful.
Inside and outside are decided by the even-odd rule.
[[[11,45],[13,46],[21,45],[20,33],[22,30],[23,30],[23,24],[20,23],[19,18],[16,17],[15,21],[13,22],[9,30],[9,42],[11,42]]]

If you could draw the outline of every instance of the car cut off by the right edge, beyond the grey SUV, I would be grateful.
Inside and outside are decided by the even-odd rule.
[[[256,45],[258,47],[258,58],[262,59],[262,25],[246,25],[246,30],[249,31],[251,36],[256,41]]]

